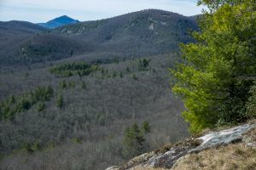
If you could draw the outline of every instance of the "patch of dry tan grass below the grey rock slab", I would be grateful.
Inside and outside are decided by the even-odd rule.
[[[173,170],[253,170],[255,167],[256,149],[239,143],[219,146],[185,156],[175,164]]]

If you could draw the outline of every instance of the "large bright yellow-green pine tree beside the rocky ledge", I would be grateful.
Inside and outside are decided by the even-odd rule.
[[[215,2],[215,3],[211,3]],[[256,76],[254,1],[201,1],[211,9],[201,17],[196,42],[183,44],[183,63],[171,70],[172,91],[187,108],[192,132],[247,119],[245,104]]]

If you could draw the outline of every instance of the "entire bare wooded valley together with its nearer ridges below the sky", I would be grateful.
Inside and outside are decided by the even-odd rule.
[[[195,18],[150,9],[53,30],[15,23],[0,23],[3,169],[125,163],[133,123],[149,123],[147,150],[189,135],[168,68],[181,60],[179,43],[192,41]]]

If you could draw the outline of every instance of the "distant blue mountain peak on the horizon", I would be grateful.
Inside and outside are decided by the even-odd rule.
[[[73,20],[72,18],[68,17],[67,15],[63,15],[58,18],[55,18],[54,20],[49,20],[46,23],[38,23],[38,25],[44,26],[45,28],[54,29],[56,27],[75,24],[78,22],[79,22],[79,20]]]

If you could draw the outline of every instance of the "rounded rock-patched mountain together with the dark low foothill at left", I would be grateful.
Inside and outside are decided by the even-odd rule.
[[[20,65],[81,54],[98,59],[106,59],[106,54],[117,58],[168,54],[177,51],[180,42],[192,41],[188,31],[195,29],[196,21],[190,17],[149,9],[58,27],[26,38],[19,48],[10,51],[6,48],[5,53],[0,52],[0,60],[2,65]],[[58,49],[50,50],[50,44],[57,44],[60,39],[67,43],[60,43]]]

